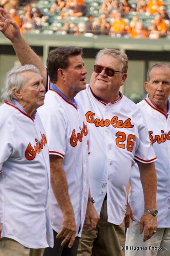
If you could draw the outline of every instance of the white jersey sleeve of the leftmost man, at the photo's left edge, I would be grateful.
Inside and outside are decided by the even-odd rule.
[[[19,128],[19,127],[18,127]],[[14,143],[11,134],[10,124],[7,122],[0,122],[0,172],[3,170],[3,163],[13,154]]]

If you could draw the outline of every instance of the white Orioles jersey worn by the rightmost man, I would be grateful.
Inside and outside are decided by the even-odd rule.
[[[170,102],[168,101],[168,104]],[[157,172],[158,209],[157,221],[159,228],[170,227],[170,116],[155,108],[149,98],[139,102],[138,107],[145,116],[153,148],[158,160],[155,162]],[[170,105],[169,105],[170,106]],[[170,109],[169,111],[170,112]],[[140,220],[144,212],[143,190],[140,182],[138,166],[135,164],[131,173],[131,189],[129,204],[136,220]],[[151,209],[152,210],[152,209]]]

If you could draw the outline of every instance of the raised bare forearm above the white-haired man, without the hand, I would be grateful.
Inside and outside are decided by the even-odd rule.
[[[32,64],[36,66],[43,78],[43,84],[46,86],[46,68],[44,67],[44,64],[39,56],[27,44],[25,38],[20,34],[17,38],[15,37],[13,40],[11,40],[11,43],[21,64]]]

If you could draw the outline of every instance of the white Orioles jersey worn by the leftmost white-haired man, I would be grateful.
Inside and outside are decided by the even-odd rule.
[[[39,115],[32,120],[4,103],[0,107],[0,137],[1,235],[29,248],[53,247],[49,155]]]

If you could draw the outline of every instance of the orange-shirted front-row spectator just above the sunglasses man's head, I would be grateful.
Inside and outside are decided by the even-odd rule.
[[[117,12],[115,21],[111,24],[110,28],[110,35],[117,35],[121,34],[124,35],[127,30],[127,23],[126,21],[122,18],[122,13]]]

